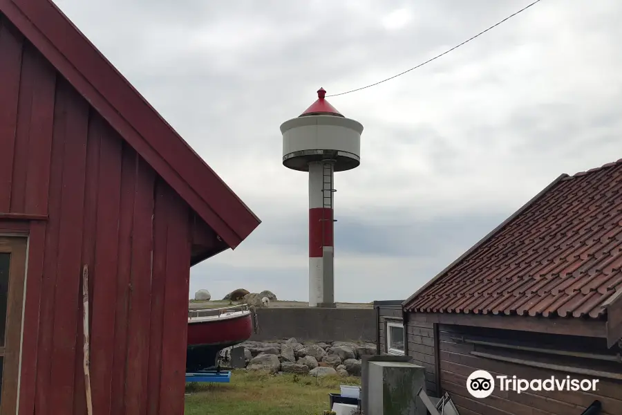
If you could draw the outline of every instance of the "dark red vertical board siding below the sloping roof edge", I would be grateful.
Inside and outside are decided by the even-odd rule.
[[[19,414],[182,414],[188,205],[0,15],[0,213],[30,224]]]

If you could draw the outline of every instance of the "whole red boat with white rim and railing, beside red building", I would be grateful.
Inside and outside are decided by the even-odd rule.
[[[190,310],[186,372],[216,370],[218,353],[248,340],[258,333],[257,313],[253,306],[241,304],[225,308]]]

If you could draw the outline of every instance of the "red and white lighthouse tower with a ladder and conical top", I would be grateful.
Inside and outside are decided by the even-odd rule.
[[[309,172],[309,306],[334,307],[334,172],[361,163],[360,122],[346,118],[317,91],[317,101],[281,124],[283,165]]]

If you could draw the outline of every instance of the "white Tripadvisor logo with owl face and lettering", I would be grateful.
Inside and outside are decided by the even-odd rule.
[[[571,379],[551,376],[546,379],[521,379],[516,376],[493,377],[485,370],[476,370],[466,378],[466,390],[474,398],[487,398],[495,391],[495,384],[500,391],[596,391],[599,379]]]

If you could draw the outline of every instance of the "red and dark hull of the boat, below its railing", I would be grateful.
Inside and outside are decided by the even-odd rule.
[[[186,371],[218,366],[218,352],[248,340],[253,334],[252,313],[188,320]]]

